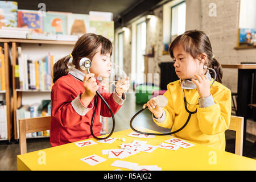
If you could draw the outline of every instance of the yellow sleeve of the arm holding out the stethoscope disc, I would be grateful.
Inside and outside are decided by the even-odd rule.
[[[153,120],[156,123],[156,125],[171,129],[172,125],[174,124],[175,112],[174,112],[174,103],[172,101],[172,97],[169,89],[164,93],[164,96],[166,96],[166,98],[168,99],[167,106],[163,108],[164,112],[166,113],[166,118],[164,119],[163,122],[158,122],[154,118]]]

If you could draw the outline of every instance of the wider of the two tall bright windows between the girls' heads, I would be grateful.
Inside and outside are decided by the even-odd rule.
[[[136,73],[137,83],[144,82],[144,57],[146,49],[146,22],[138,23],[136,26]]]

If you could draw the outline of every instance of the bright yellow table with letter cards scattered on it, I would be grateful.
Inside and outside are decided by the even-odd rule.
[[[150,131],[143,129],[144,131]],[[102,150],[120,148],[122,143],[130,143],[134,140],[145,140],[147,144],[158,146],[164,140],[172,138],[167,136],[155,136],[155,138],[129,137],[133,130],[123,130],[113,133],[112,137],[117,138],[112,144],[98,143],[85,147],[78,147],[75,143],[68,143],[57,147],[46,148],[17,156],[18,170],[93,170],[113,171],[119,167],[110,166],[115,160],[138,163],[139,166],[158,165],[162,170],[255,170],[256,160],[238,156],[230,152],[223,152],[213,148],[195,144],[190,148],[178,148],[176,151],[164,148],[156,148],[151,153],[140,152],[124,159],[112,158],[102,155]],[[122,142],[118,138],[125,138]],[[86,139],[86,140],[91,140]],[[92,139],[96,141],[96,139]],[[84,141],[84,140],[82,140]],[[90,166],[83,162],[82,158],[96,154],[105,158],[105,162]],[[129,170],[120,168],[122,170]]]

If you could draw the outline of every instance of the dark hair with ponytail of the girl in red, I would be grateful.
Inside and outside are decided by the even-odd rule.
[[[112,55],[113,47],[109,39],[96,34],[82,35],[77,40],[71,53],[73,57],[72,63],[75,65],[75,68],[79,68],[79,61],[82,57],[88,57],[92,60],[94,55],[96,55],[97,48],[100,46],[102,55],[105,55],[106,53],[110,53],[110,56]],[[61,76],[68,74],[68,61],[70,58],[70,55],[65,56],[53,65],[53,83]]]

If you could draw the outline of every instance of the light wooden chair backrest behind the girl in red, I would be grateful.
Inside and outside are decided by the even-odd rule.
[[[27,153],[27,133],[49,130],[51,116],[19,119],[19,150],[20,154]]]

